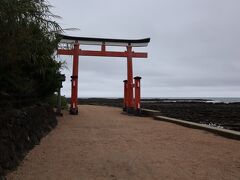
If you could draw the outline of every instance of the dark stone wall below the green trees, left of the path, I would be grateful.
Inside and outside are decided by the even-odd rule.
[[[0,179],[57,125],[53,109],[37,105],[0,114]]]

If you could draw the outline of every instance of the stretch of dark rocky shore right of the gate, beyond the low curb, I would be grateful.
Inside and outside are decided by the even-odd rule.
[[[240,131],[239,103],[144,103],[143,107],[158,110],[162,116]]]

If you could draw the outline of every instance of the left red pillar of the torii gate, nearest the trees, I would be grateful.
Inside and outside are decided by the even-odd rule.
[[[79,60],[79,43],[74,43],[74,54],[73,54],[73,74],[72,78],[72,95],[71,95],[71,106],[70,114],[78,114],[78,60]]]

